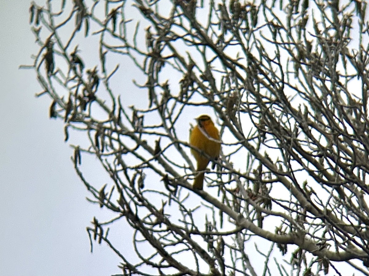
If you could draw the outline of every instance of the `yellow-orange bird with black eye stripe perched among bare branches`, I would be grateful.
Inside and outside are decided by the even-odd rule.
[[[197,162],[197,175],[193,182],[193,189],[202,190],[204,184],[204,170],[210,160],[216,160],[220,153],[219,130],[208,115],[196,118],[197,125],[190,132],[191,153]],[[196,150],[197,149],[197,150]]]

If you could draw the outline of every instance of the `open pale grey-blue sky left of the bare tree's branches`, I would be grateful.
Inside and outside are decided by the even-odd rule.
[[[39,49],[29,6],[0,0],[0,275],[120,273],[106,245],[90,253],[86,226],[99,208],[85,199],[62,121],[49,119],[51,100],[34,96],[35,72],[18,70]]]

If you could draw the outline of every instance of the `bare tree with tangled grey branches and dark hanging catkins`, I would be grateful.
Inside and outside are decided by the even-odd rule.
[[[65,141],[86,134],[72,161],[112,216],[87,232],[122,275],[369,275],[366,1],[66,2],[32,3],[25,67]],[[187,129],[204,112],[222,153],[197,191]],[[134,251],[108,236],[118,222]]]

